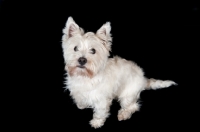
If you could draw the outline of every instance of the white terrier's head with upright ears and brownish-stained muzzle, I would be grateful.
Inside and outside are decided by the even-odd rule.
[[[111,26],[105,23],[96,33],[84,33],[72,17],[63,29],[62,48],[69,76],[92,78],[104,69],[111,50]]]

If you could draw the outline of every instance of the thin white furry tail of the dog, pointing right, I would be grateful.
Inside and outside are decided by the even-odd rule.
[[[147,79],[147,85],[145,89],[160,89],[160,88],[166,88],[169,87],[171,85],[177,85],[177,83],[175,83],[174,81],[171,80],[156,80],[153,78]]]

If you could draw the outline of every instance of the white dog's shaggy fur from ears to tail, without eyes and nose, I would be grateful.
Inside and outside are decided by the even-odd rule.
[[[94,109],[90,121],[94,128],[104,124],[113,99],[118,99],[121,105],[118,120],[126,120],[139,110],[137,101],[142,90],[176,84],[173,81],[145,78],[142,69],[132,61],[118,56],[108,58],[112,42],[110,30],[110,23],[107,22],[96,33],[84,33],[72,17],[68,18],[63,29],[66,89],[70,91],[79,109]],[[96,50],[95,54],[92,48]],[[87,59],[83,67],[78,62],[80,57]]]

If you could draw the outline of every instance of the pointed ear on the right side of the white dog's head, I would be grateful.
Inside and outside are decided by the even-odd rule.
[[[110,22],[105,23],[99,30],[97,30],[97,37],[99,37],[103,44],[105,45],[106,49],[111,51],[111,42],[112,42],[112,37],[111,37],[111,26]]]

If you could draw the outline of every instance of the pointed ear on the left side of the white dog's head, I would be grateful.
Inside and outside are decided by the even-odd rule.
[[[63,33],[70,38],[76,34],[83,34],[83,30],[75,23],[72,17],[67,19]]]

